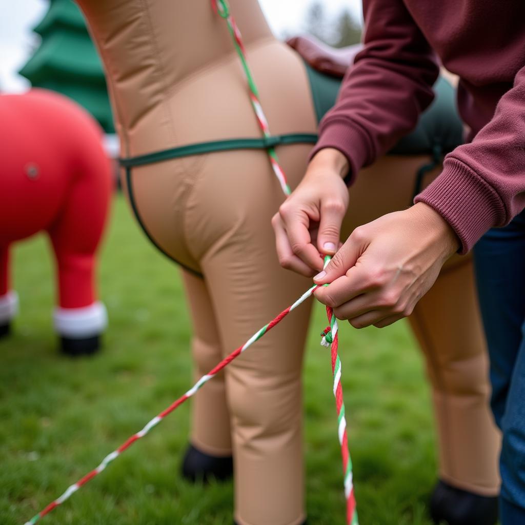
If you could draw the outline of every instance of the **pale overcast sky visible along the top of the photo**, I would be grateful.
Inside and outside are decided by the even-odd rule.
[[[174,0],[178,1],[178,0]],[[192,0],[195,1],[195,0]],[[303,29],[307,0],[259,0],[274,33],[281,37]],[[349,8],[361,19],[361,0],[322,0],[327,14]],[[27,89],[27,81],[17,74],[31,50],[38,45],[31,32],[44,16],[47,0],[3,0],[0,2],[0,89],[19,92]],[[242,31],[243,28],[241,27]]]

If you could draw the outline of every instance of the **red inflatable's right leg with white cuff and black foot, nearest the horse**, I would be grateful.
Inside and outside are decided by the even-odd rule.
[[[58,274],[60,306],[55,310],[55,328],[67,353],[96,350],[98,335],[107,323],[106,309],[97,302],[95,272],[96,250],[111,191],[110,165],[100,142],[84,144],[86,151],[78,160],[79,174],[59,216],[48,229]],[[88,341],[86,348],[81,340]],[[68,348],[72,346],[76,350],[70,352]]]

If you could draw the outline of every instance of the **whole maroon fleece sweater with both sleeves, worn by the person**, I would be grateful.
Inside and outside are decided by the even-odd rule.
[[[435,55],[459,76],[468,143],[415,198],[454,228],[465,253],[525,207],[525,0],[363,0],[364,49],[320,125],[352,173],[412,130],[432,101]]]

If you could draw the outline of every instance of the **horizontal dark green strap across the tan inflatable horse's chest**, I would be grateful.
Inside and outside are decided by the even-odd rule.
[[[203,153],[213,153],[215,151],[229,150],[266,150],[279,145],[286,144],[315,144],[317,135],[314,133],[289,133],[286,135],[272,135],[271,137],[261,137],[259,139],[228,139],[216,140],[212,142],[200,142],[189,144],[178,148],[155,151],[146,155],[119,159],[123,167],[143,166],[170,159],[179,159],[189,155],[201,155]]]

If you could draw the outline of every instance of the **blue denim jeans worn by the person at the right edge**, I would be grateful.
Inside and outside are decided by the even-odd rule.
[[[490,230],[474,256],[491,406],[503,432],[501,523],[525,525],[525,212]]]

